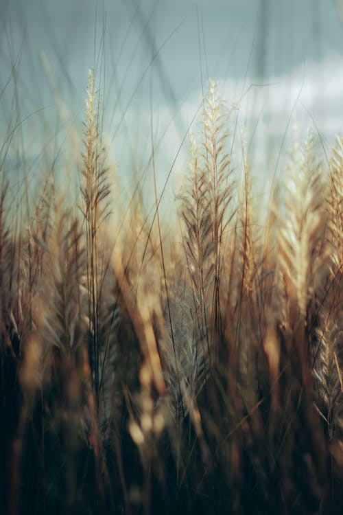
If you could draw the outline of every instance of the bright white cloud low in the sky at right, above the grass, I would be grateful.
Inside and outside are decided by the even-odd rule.
[[[268,78],[264,85],[244,80],[220,82],[226,102],[240,104],[241,123],[257,122],[273,135],[283,135],[294,115],[300,130],[316,126],[332,139],[342,130],[343,57],[329,54],[319,62],[308,61],[287,76]],[[267,123],[267,126],[265,123]]]

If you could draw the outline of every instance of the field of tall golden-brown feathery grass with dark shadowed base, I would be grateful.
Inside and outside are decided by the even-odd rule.
[[[210,82],[168,225],[114,191],[94,80],[78,207],[14,213],[3,164],[1,514],[341,514],[343,139],[263,207]]]

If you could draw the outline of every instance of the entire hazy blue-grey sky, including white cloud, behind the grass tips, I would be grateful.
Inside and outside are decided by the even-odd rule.
[[[294,119],[329,145],[342,132],[338,1],[0,0],[6,159],[20,152],[18,137],[8,144],[18,124],[27,159],[42,152],[42,130],[45,155],[62,153],[82,128],[91,67],[104,140],[123,174],[149,162],[152,113],[163,184],[208,78],[246,126],[257,163],[269,152],[276,165]]]

